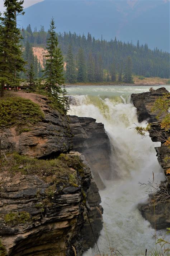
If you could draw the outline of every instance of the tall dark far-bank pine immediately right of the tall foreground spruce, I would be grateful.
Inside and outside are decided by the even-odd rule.
[[[66,56],[66,80],[69,83],[76,82],[76,69],[74,64],[74,57],[72,54],[72,47],[69,45],[67,56]]]

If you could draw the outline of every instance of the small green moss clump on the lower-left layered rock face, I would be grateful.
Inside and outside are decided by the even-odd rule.
[[[25,224],[31,220],[30,214],[26,211],[10,212],[5,215],[6,225]]]

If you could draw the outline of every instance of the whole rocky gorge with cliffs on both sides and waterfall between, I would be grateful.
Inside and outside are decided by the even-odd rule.
[[[146,183],[154,172],[156,182],[170,189],[164,162],[169,149],[134,129],[149,122],[170,136],[151,112],[167,92],[157,88],[68,87],[67,116],[46,96],[18,92],[38,104],[43,118],[0,129],[2,256],[92,256],[98,253],[95,241],[109,253],[103,221],[123,255],[142,255],[154,245],[155,218],[158,236],[166,236],[169,198],[156,201],[154,217],[152,195],[138,182]]]

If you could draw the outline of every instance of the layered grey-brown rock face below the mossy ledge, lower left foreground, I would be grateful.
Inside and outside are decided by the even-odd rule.
[[[59,186],[37,175],[16,174],[1,179],[0,237],[8,255],[72,256],[73,247],[77,255],[82,255],[83,245],[86,249],[94,245],[87,216],[95,221],[97,238],[102,217],[96,214],[96,206],[102,211],[101,200],[84,156],[73,152],[67,157],[75,155],[86,166],[81,175],[77,173],[81,186]],[[7,214],[18,212],[30,217],[24,222],[6,220]]]

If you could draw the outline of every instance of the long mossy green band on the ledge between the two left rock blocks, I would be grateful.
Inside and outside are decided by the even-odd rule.
[[[56,159],[44,160],[33,159],[28,156],[22,156],[17,153],[7,155],[8,161],[1,161],[1,172],[8,170],[10,175],[22,173],[24,175],[39,175],[46,180],[46,177],[57,177],[54,179],[55,183],[77,184],[76,172],[79,172],[81,177],[84,176],[85,165],[77,156],[69,156],[67,154],[60,154]],[[70,170],[70,168],[72,169]],[[65,177],[65,178],[63,178]],[[75,177],[75,179],[74,179]],[[69,181],[70,180],[70,181]],[[53,188],[52,188],[53,189]],[[54,190],[54,189],[53,189]],[[37,197],[39,193],[37,192]]]

